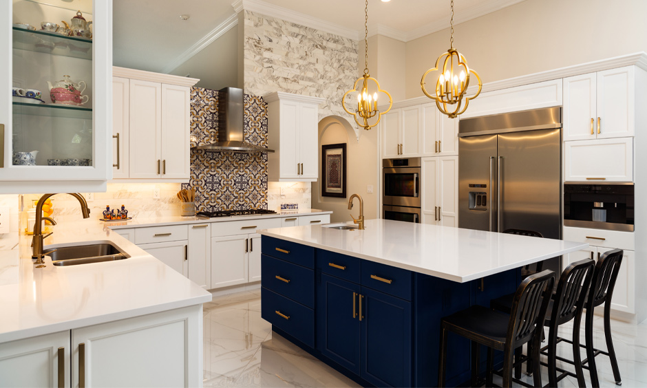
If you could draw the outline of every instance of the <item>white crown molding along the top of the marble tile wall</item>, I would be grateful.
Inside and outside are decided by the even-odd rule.
[[[352,39],[354,41],[359,41],[360,39],[359,32],[357,30],[353,30],[352,28],[345,28],[341,25],[317,19],[300,12],[295,12],[288,8],[274,6],[261,0],[237,0],[233,4],[231,4],[231,6],[236,12],[247,10],[259,14],[264,14],[268,17],[275,17],[284,21],[290,21],[292,23],[304,25],[306,27],[314,28],[315,30],[339,35],[343,38]]]

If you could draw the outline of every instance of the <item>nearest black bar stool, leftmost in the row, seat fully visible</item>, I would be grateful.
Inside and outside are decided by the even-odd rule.
[[[548,308],[555,283],[555,272],[545,270],[521,282],[514,294],[511,314],[503,314],[480,305],[471,306],[441,321],[441,354],[438,365],[438,387],[445,386],[447,367],[447,335],[455,332],[472,341],[472,385],[478,376],[478,345],[487,350],[487,386],[492,386],[494,349],[502,350],[503,387],[512,386],[513,352],[524,343],[533,341],[536,349],[533,361],[539,369],[540,328]],[[533,376],[535,387],[542,386],[541,374]]]

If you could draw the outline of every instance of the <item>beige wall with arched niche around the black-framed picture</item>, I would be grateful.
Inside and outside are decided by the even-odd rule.
[[[370,44],[370,43],[369,43]],[[349,116],[350,118],[350,116]],[[321,179],[312,183],[312,208],[332,211],[331,222],[351,221],[349,213],[359,217],[359,204],[355,200],[352,211],[348,210],[348,198],[359,194],[364,201],[365,219],[378,218],[378,163],[376,128],[360,132],[359,141],[346,118],[329,116],[319,122],[319,171],[321,171],[321,145],[346,143],[346,198],[321,197]],[[321,177],[321,173],[319,174]],[[366,186],[373,186],[367,193]]]

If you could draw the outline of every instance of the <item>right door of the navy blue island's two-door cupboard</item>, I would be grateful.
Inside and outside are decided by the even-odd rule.
[[[411,387],[411,302],[361,288],[361,372],[376,387]]]

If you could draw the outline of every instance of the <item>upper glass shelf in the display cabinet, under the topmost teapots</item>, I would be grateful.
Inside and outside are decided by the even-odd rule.
[[[45,54],[70,56],[92,61],[92,41],[77,36],[63,36],[56,32],[13,28],[14,49]]]

